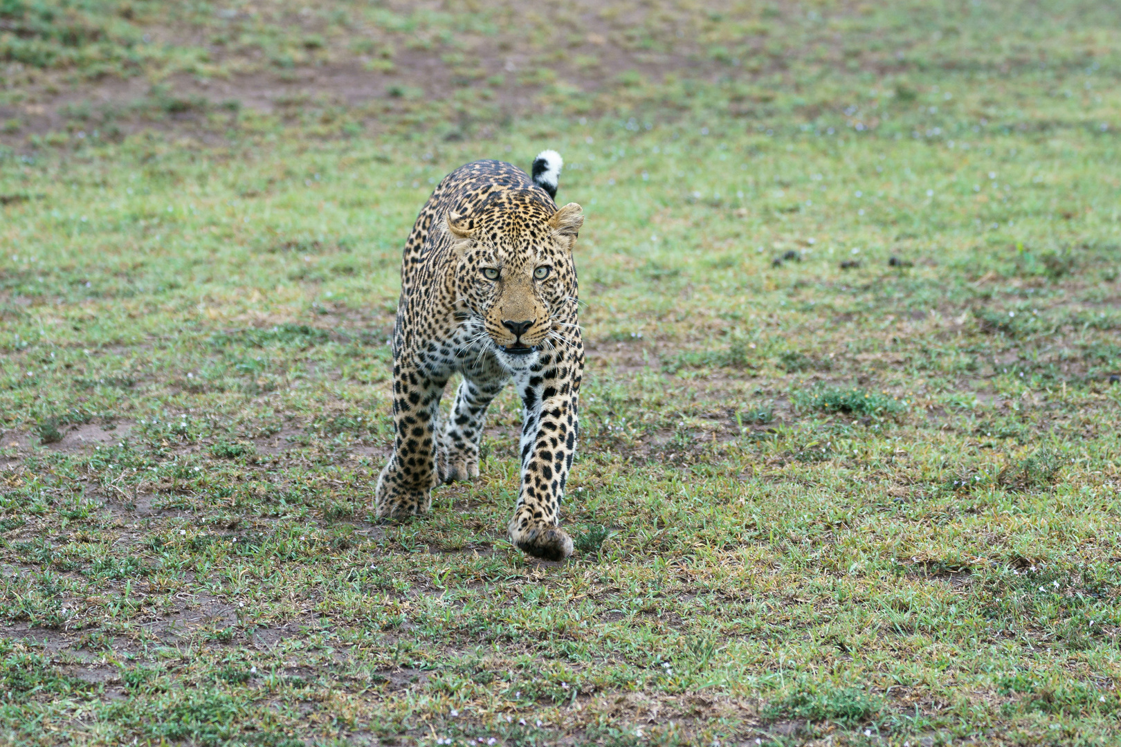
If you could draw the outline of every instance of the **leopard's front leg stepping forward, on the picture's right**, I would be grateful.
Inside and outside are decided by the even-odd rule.
[[[521,487],[510,520],[510,541],[537,558],[564,560],[572,538],[559,527],[560,499],[576,452],[576,405],[584,351],[574,345],[543,353],[519,382],[525,405]]]

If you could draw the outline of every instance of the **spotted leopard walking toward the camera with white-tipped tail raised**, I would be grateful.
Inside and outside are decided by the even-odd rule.
[[[584,211],[558,207],[564,161],[541,151],[531,175],[478,160],[444,177],[401,255],[391,339],[393,442],[374,514],[427,514],[432,491],[479,477],[488,408],[508,384],[521,399],[519,487],[507,526],[529,555],[560,561],[573,540],[560,504],[576,452],[584,374],[573,260]],[[441,400],[460,374],[445,414]]]

